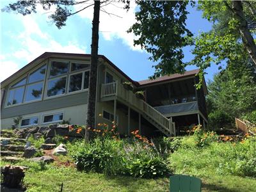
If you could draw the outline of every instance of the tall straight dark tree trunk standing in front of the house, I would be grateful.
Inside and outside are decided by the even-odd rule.
[[[97,66],[98,66],[98,45],[99,45],[99,17],[100,1],[94,1],[92,21],[92,45],[91,45],[91,67],[89,80],[89,96],[87,110],[87,127],[95,126],[95,104],[97,87]],[[86,140],[89,139],[89,132],[86,130]]]

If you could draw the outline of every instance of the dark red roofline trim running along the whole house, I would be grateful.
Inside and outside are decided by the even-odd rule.
[[[1,82],[1,86],[5,86],[6,84],[10,83],[17,77],[22,76],[24,73],[28,72],[31,68],[35,67],[38,63],[41,63],[42,61],[46,60],[47,58],[53,57],[53,56],[64,56],[64,57],[76,57],[76,58],[90,58],[90,54],[76,54],[76,53],[64,53],[64,52],[44,52],[44,54],[38,56],[38,58],[35,58],[35,60],[28,63],[28,65],[20,68],[17,72],[12,74],[12,76],[8,77],[4,81]],[[114,63],[112,63],[106,56],[99,55],[99,58],[102,58],[102,60],[106,61],[111,67],[115,68],[122,76],[126,77],[129,81],[131,81],[136,86],[147,86],[154,83],[160,83],[165,81],[172,81],[174,79],[184,78],[184,77],[192,77],[195,76],[195,74],[198,74],[199,70],[189,70],[187,72],[184,72],[184,74],[173,74],[170,76],[162,76],[154,80],[143,80],[143,81],[134,81],[129,76],[127,76],[120,68],[116,67]],[[205,82],[204,82],[205,83]]]

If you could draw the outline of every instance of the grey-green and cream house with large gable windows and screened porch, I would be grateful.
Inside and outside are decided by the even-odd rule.
[[[112,122],[129,135],[139,129],[152,136],[182,134],[184,128],[207,124],[205,81],[196,90],[198,70],[133,81],[105,56],[99,56],[95,126]],[[1,127],[45,126],[69,121],[86,124],[90,54],[45,52],[1,83]],[[143,90],[145,99],[124,87]]]

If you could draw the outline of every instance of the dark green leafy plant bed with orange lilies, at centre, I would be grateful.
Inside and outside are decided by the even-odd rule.
[[[170,173],[164,158],[141,141],[95,138],[72,151],[77,168],[86,172],[134,177],[162,177]]]

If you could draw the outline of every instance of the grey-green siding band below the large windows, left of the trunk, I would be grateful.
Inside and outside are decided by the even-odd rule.
[[[65,95],[62,97],[56,97],[54,99],[21,104],[19,106],[13,106],[10,108],[4,108],[5,101],[6,94],[4,94],[3,106],[1,108],[1,118],[10,118],[13,116],[22,116],[31,113],[39,113],[42,111],[67,108],[70,106],[77,106],[79,104],[86,104],[88,102],[88,91]]]

